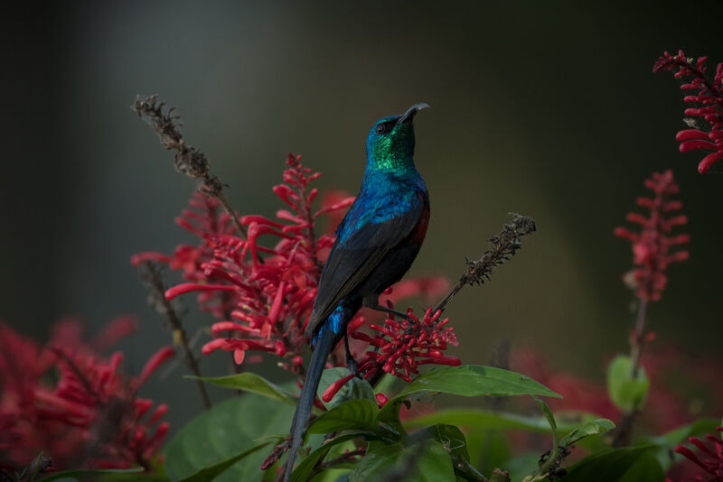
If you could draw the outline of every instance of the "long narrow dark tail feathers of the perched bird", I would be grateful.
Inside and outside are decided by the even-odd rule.
[[[314,353],[312,353],[309,368],[306,370],[304,387],[301,389],[299,403],[296,405],[296,412],[294,412],[294,421],[291,422],[291,450],[289,450],[288,459],[286,460],[284,482],[289,482],[291,472],[294,469],[294,459],[296,459],[296,452],[301,447],[304,427],[311,414],[316,389],[319,387],[324,365],[326,365],[326,357],[332,352],[336,341],[338,341],[337,336],[331,329],[324,329],[321,336],[316,340]]]

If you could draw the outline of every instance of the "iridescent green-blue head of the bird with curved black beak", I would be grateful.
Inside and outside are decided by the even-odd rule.
[[[367,137],[367,168],[397,171],[412,164],[414,125],[412,118],[428,104],[415,104],[399,116],[382,117]]]

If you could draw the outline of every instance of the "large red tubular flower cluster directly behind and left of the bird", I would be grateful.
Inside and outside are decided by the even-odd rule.
[[[280,366],[302,373],[302,355],[308,350],[305,322],[334,240],[329,230],[318,233],[317,223],[320,217],[328,216],[327,226],[334,227],[340,213],[354,200],[332,193],[322,197],[320,209],[313,209],[319,191],[310,183],[319,176],[305,168],[301,156],[288,154],[284,181],[273,188],[288,209],[278,210],[277,219],[240,216],[245,232],[234,226],[216,199],[196,193],[191,209],[184,210],[176,223],[198,236],[200,244],[179,246],[174,255],[146,252],[134,256],[134,264],[155,261],[182,270],[188,283],[167,290],[166,298],[197,292],[202,309],[219,319],[212,326],[219,338],[204,345],[204,354],[218,349],[230,351],[241,364],[249,360],[249,350],[266,352],[287,360]],[[444,281],[427,278],[399,283],[390,295],[398,299],[444,290]],[[361,314],[357,315],[349,324],[349,332],[364,321]],[[334,365],[343,366],[342,349],[333,354]]]

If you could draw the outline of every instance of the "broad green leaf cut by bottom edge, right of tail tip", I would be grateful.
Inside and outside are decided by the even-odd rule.
[[[383,442],[371,443],[349,482],[369,480],[454,482],[455,471],[449,453],[437,440],[422,440],[410,447]]]

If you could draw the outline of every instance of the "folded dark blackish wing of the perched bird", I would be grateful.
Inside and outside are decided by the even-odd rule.
[[[422,196],[408,210],[379,224],[367,223],[349,239],[337,240],[324,264],[314,310],[306,325],[311,335],[346,296],[360,286],[393,247],[417,226],[425,203]],[[368,294],[368,293],[364,293]]]

